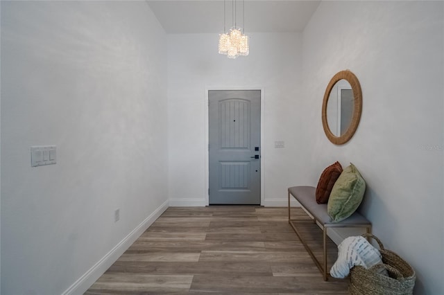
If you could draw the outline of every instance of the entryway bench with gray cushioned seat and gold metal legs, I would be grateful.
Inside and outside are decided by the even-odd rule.
[[[288,189],[289,192],[289,224],[293,227],[296,235],[304,245],[307,252],[310,254],[311,259],[313,259],[314,263],[318,267],[321,274],[323,274],[324,280],[327,280],[327,275],[330,274],[327,272],[327,229],[328,228],[364,228],[366,229],[366,233],[371,233],[372,224],[366,219],[366,217],[361,214],[355,212],[347,219],[341,222],[332,222],[330,216],[327,213],[327,204],[318,204],[316,203],[316,188],[313,186],[293,186]],[[311,215],[311,220],[302,220],[302,219],[291,219],[290,213],[290,196],[293,196],[302,206],[305,208],[305,211]],[[302,235],[299,233],[296,223],[297,222],[314,222],[318,223],[321,226],[323,231],[323,265],[319,262],[319,260],[314,256],[314,253],[309,248],[308,244],[303,240]]]

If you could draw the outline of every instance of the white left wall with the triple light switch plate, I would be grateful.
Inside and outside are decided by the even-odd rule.
[[[144,1],[1,2],[1,294],[82,293],[168,206],[166,46]]]

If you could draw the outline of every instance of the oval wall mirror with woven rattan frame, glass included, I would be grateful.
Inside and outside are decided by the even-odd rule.
[[[325,89],[322,124],[327,138],[336,145],[346,143],[355,134],[361,118],[361,85],[351,71],[340,71]]]

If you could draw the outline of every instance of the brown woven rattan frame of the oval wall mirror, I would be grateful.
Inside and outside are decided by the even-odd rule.
[[[353,107],[353,115],[350,125],[348,129],[341,136],[335,136],[327,123],[327,102],[330,97],[330,92],[332,91],[334,84],[339,80],[347,80],[350,83],[350,86],[353,90],[354,96],[354,107]],[[324,99],[322,103],[322,125],[324,127],[324,132],[327,138],[334,143],[335,145],[343,145],[344,143],[350,141],[350,138],[355,134],[356,129],[359,125],[359,120],[361,119],[361,111],[362,111],[362,91],[361,84],[359,84],[359,80],[354,73],[349,70],[340,71],[333,76],[330,83],[327,85],[327,89],[325,89]]]

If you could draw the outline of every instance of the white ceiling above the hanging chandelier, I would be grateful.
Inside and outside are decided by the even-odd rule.
[[[222,33],[224,1],[146,0],[168,34]],[[225,1],[226,29],[232,26],[232,0]],[[235,1],[237,26],[249,32],[302,32],[321,1]],[[245,21],[242,13],[245,6]]]

